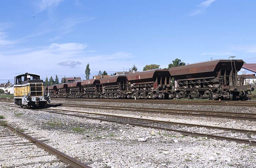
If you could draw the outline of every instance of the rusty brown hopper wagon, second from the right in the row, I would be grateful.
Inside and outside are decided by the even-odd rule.
[[[127,74],[130,90],[136,98],[164,98],[163,90],[171,85],[168,70],[150,70]],[[129,97],[129,95],[128,95]],[[168,97],[168,94],[167,94]]]

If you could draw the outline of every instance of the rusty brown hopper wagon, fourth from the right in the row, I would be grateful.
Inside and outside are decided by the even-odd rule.
[[[90,79],[82,81],[81,85],[84,88],[84,98],[100,98],[102,85],[100,79]]]

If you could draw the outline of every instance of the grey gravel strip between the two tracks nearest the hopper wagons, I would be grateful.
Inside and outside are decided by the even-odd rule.
[[[221,105],[195,105],[195,104],[153,104],[153,103],[123,103],[123,102],[103,102],[103,101],[67,101],[51,100],[51,103],[73,103],[88,105],[113,105],[113,106],[131,106],[147,108],[171,108],[171,109],[190,109],[190,110],[209,110],[221,112],[251,112],[256,113],[256,107],[246,106],[221,106]]]

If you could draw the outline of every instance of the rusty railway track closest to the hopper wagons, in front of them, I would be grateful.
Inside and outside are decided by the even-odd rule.
[[[68,101],[97,101],[97,102],[125,102],[125,103],[154,103],[154,104],[196,104],[196,105],[231,105],[231,106],[255,106],[256,101],[180,101],[164,99],[92,99],[92,98],[51,98],[51,100]]]

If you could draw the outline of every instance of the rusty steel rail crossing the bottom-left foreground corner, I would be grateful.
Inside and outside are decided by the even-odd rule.
[[[74,159],[74,158],[72,158],[72,157],[62,153],[62,152],[60,152],[59,150],[57,150],[57,149],[55,149],[55,148],[53,148],[53,147],[51,147],[51,146],[41,142],[40,140],[38,140],[36,138],[33,138],[32,136],[30,136],[28,134],[25,134],[24,132],[20,131],[17,128],[14,128],[13,126],[11,126],[11,125],[9,125],[7,123],[6,123],[6,126],[10,130],[18,133],[20,136],[25,137],[26,139],[28,139],[29,141],[34,143],[36,146],[38,146],[38,147],[44,149],[45,151],[47,151],[47,152],[57,156],[62,162],[70,165],[73,168],[91,168],[90,166],[88,166],[88,165],[86,165],[86,164],[84,164],[84,163],[82,163],[82,162],[80,162],[80,161],[78,161],[78,160],[76,160],[76,159]]]

